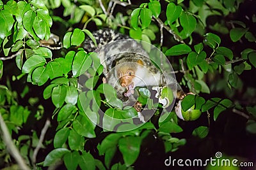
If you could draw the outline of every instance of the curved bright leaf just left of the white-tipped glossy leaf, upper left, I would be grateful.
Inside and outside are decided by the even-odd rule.
[[[28,31],[29,34],[31,34],[32,36],[35,34],[32,29],[35,18],[36,18],[35,11],[29,10],[29,11],[26,11],[26,13],[24,13],[23,26],[26,29],[26,31]]]

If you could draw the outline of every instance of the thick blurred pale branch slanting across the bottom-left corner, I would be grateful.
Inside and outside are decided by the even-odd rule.
[[[11,135],[9,133],[9,130],[8,130],[4,120],[3,120],[1,113],[0,113],[0,127],[1,127],[1,131],[2,131],[1,138],[3,139],[8,152],[16,160],[20,169],[29,170],[30,168],[25,164],[25,161],[22,158],[22,156],[20,155],[19,150],[16,148],[16,146],[12,142]]]

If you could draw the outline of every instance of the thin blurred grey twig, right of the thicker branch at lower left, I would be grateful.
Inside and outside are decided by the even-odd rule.
[[[51,122],[50,122],[49,119],[47,119],[46,122],[45,122],[44,128],[41,131],[38,144],[36,145],[36,148],[35,148],[34,153],[33,153],[32,162],[33,162],[34,167],[36,167],[36,155],[37,155],[38,151],[40,150],[40,148],[42,148],[43,141],[44,141],[44,136],[45,136],[45,134],[47,132],[47,129],[49,128],[50,125],[51,125]]]

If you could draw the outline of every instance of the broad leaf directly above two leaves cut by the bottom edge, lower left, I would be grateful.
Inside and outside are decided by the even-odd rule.
[[[84,137],[77,134],[74,129],[71,129],[68,135],[68,146],[71,150],[83,150],[84,147]]]

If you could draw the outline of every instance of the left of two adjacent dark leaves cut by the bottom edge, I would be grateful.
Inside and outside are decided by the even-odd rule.
[[[64,155],[64,164],[68,170],[77,169],[80,158],[79,152],[69,152]]]

